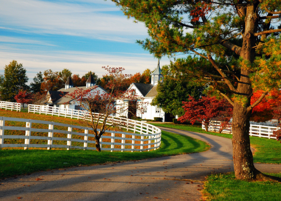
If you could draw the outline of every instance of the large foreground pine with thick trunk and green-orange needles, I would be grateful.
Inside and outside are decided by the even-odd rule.
[[[238,179],[268,179],[255,169],[250,149],[252,109],[280,88],[279,0],[112,0],[128,17],[144,22],[138,41],[156,57],[176,53],[171,68],[206,83],[233,105],[233,161]],[[207,65],[205,65],[207,63]],[[251,104],[253,90],[264,93]]]

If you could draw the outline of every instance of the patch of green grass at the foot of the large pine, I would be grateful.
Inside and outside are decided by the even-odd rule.
[[[271,175],[281,177],[281,173]],[[205,200],[280,200],[280,183],[241,181],[235,179],[234,173],[209,175],[204,187]]]

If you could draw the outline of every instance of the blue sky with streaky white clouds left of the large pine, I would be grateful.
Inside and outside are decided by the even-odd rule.
[[[106,74],[102,66],[126,74],[153,70],[158,59],[136,43],[147,37],[144,24],[110,0],[0,0],[0,74],[16,60],[29,83],[48,69],[99,77]],[[160,66],[169,63],[162,58]]]

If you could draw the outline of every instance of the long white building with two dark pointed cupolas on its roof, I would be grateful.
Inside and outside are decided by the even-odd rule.
[[[65,88],[59,89],[58,91],[48,91],[46,94],[47,102],[45,102],[45,104],[51,107],[81,110],[80,105],[75,102],[75,100],[67,96],[68,93],[73,93],[77,89],[90,89],[89,93],[95,94],[108,93],[103,87],[96,85],[92,75],[89,76],[86,86],[84,87],[73,87],[73,82],[71,77],[69,77],[65,83]]]

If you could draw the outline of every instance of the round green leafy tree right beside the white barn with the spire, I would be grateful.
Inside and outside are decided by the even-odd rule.
[[[199,99],[204,87],[198,83],[182,81],[180,77],[171,74],[164,74],[164,76],[163,83],[157,85],[158,93],[151,105],[159,106],[164,112],[182,116],[184,115],[182,102],[187,101],[189,96]]]

